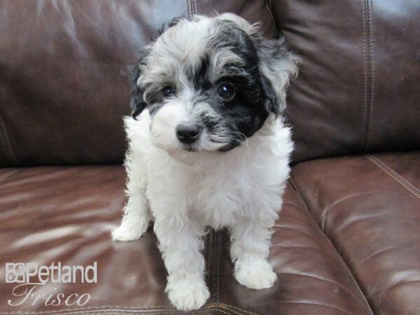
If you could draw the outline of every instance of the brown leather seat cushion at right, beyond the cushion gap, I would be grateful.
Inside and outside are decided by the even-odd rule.
[[[293,181],[375,314],[420,314],[420,152],[304,162]]]

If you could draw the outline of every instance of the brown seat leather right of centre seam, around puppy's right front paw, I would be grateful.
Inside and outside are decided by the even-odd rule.
[[[224,237],[218,301],[256,314],[371,314],[344,260],[290,185],[283,201],[269,253],[278,276],[274,287],[248,290],[237,283]]]

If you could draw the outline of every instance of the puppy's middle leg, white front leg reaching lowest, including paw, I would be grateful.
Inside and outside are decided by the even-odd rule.
[[[204,283],[202,227],[192,218],[176,218],[176,210],[169,216],[154,213],[154,230],[168,272],[169,300],[183,311],[198,309],[210,295]]]

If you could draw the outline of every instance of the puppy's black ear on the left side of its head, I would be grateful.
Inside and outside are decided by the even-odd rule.
[[[146,108],[147,104],[143,99],[143,88],[141,87],[140,77],[141,77],[141,66],[146,64],[146,57],[148,52],[146,49],[141,51],[141,57],[137,64],[130,66],[128,69],[130,73],[130,83],[131,83],[131,100],[130,107],[132,109],[132,117],[134,119],[140,115],[140,113]]]

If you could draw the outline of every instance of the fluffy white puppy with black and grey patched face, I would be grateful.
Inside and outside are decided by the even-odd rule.
[[[209,298],[206,228],[228,228],[235,277],[269,288],[267,262],[293,143],[281,113],[297,57],[283,39],[225,13],[178,19],[144,48],[132,71],[123,221],[113,239],[154,231],[177,309]]]

